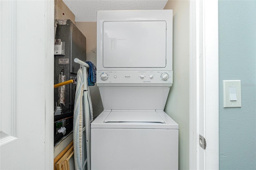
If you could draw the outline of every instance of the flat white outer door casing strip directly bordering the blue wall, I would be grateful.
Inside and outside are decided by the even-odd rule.
[[[206,168],[219,168],[219,36],[218,36],[218,0],[204,3],[205,26],[205,137],[208,140],[206,150]]]

